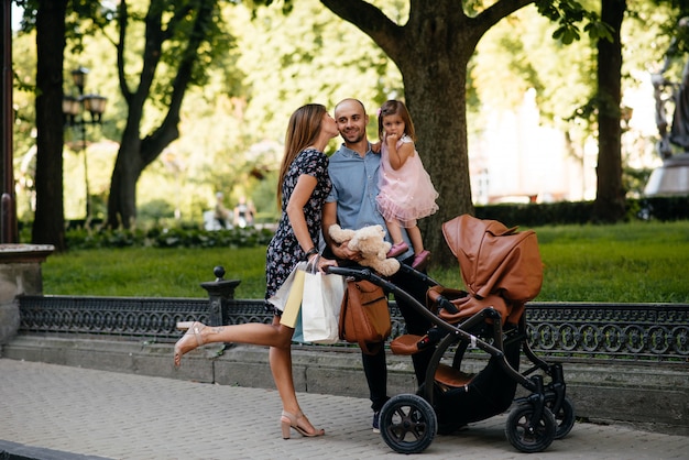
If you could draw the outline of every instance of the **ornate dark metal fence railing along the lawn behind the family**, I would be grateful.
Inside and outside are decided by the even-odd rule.
[[[219,298],[130,298],[24,296],[19,298],[20,333],[108,336],[174,342],[175,324],[270,322],[263,300]],[[393,338],[404,319],[391,303]],[[532,348],[556,360],[614,360],[689,366],[689,305],[529,303]],[[324,346],[317,346],[324,347]]]

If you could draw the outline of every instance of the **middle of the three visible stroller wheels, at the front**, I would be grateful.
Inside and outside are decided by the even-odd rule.
[[[533,420],[534,407],[529,403],[520,404],[507,416],[505,435],[510,443],[522,452],[542,452],[555,439],[555,416],[547,407],[540,420]]]

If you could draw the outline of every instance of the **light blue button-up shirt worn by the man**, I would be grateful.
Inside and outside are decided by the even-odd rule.
[[[369,150],[361,157],[359,153],[340,145],[340,149],[330,156],[328,174],[332,182],[327,202],[337,202],[337,220],[343,229],[360,229],[367,226],[380,224],[385,229],[385,239],[390,241],[385,219],[378,210],[375,197],[379,194],[378,171],[381,165],[381,155]],[[404,241],[412,248],[404,228],[402,229]],[[409,249],[398,256],[405,260],[414,255]]]

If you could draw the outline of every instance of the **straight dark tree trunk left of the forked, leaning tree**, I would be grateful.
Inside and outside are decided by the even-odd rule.
[[[40,0],[36,15],[36,213],[31,240],[65,247],[63,54],[67,0]]]

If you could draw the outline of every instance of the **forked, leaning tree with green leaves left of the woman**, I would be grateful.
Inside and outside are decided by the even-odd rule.
[[[128,106],[128,116],[110,184],[109,227],[130,228],[134,222],[136,180],[143,169],[179,136],[182,101],[189,85],[203,81],[200,63],[219,56],[230,44],[228,36],[219,32],[219,18],[217,0],[152,0],[143,19],[145,41],[141,73],[138,85],[132,85],[128,78],[132,64],[127,58],[130,56],[128,28],[132,18],[128,2],[120,2],[116,46],[120,90]],[[167,111],[160,124],[142,138],[144,107],[151,103],[149,98],[154,90],[163,91]]]

